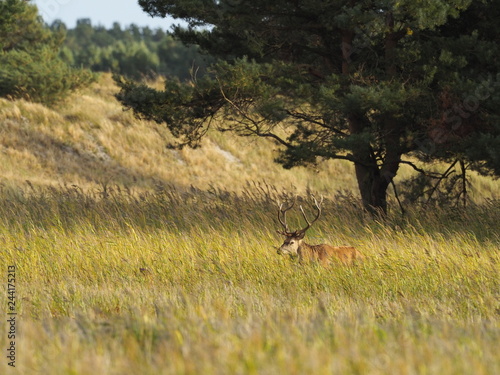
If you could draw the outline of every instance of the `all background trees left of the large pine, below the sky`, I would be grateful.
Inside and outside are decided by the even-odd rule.
[[[73,29],[47,25],[35,5],[0,1],[0,96],[53,105],[69,92],[112,72],[141,80],[179,81],[203,74],[210,59],[163,30],[130,25],[112,28],[81,19]]]

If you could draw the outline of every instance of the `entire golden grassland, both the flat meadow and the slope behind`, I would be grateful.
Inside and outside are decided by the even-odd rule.
[[[376,221],[348,164],[284,171],[272,145],[220,134],[173,152],[114,90],[0,100],[0,303],[15,265],[18,313],[1,374],[500,373],[498,181],[473,176],[466,210]],[[276,254],[276,200],[309,209],[309,191],[326,196],[309,242],[366,261]]]

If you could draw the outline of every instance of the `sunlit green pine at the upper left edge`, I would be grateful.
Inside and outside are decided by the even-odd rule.
[[[0,96],[50,105],[94,81],[59,57],[64,32],[49,30],[35,6],[7,0],[0,14]]]

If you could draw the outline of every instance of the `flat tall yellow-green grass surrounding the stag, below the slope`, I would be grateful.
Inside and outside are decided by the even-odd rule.
[[[367,260],[324,269],[276,254],[277,197],[6,189],[19,367],[0,373],[500,373],[498,202],[376,222],[326,200],[307,238]]]

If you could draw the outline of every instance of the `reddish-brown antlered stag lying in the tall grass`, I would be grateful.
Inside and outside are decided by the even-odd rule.
[[[284,231],[277,231],[279,234],[285,236],[285,242],[278,249],[278,254],[285,255],[288,254],[290,256],[298,256],[300,263],[309,263],[309,262],[320,262],[323,266],[328,266],[332,261],[337,261],[342,264],[352,264],[355,260],[363,259],[363,255],[357,251],[354,247],[351,246],[330,246],[327,244],[321,245],[309,245],[304,242],[304,236],[306,231],[319,219],[321,215],[321,204],[323,203],[323,198],[321,198],[320,202],[313,197],[314,206],[317,209],[318,213],[312,222],[309,222],[307,216],[304,212],[302,206],[300,206],[300,211],[302,212],[302,216],[306,221],[307,225],[303,229],[298,229],[295,232],[290,232],[288,229],[288,225],[286,223],[286,212],[292,209],[295,205],[295,201],[293,203],[283,209],[283,204],[280,204],[278,210],[278,220],[283,225]]]

